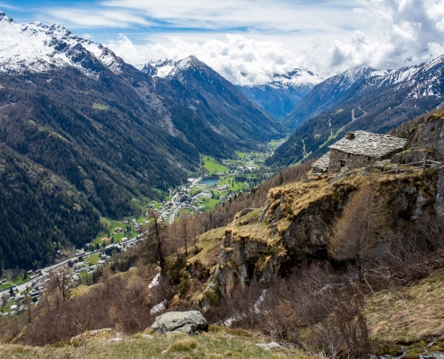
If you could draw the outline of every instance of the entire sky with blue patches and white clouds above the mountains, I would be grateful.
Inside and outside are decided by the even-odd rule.
[[[0,10],[62,24],[133,65],[194,55],[239,85],[444,54],[444,0],[0,0]]]

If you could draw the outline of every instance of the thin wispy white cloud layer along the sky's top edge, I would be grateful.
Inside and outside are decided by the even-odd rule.
[[[131,9],[171,26],[194,29],[254,28],[259,31],[334,31],[350,0],[109,0],[109,8]]]

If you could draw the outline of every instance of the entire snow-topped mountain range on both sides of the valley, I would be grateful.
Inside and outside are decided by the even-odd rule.
[[[63,26],[1,12],[0,33],[0,271],[82,246],[100,217],[138,215],[201,154],[234,157],[292,130],[266,161],[289,165],[349,130],[386,133],[444,95],[444,56],[326,80],[297,68],[239,87],[193,56],[132,66]]]

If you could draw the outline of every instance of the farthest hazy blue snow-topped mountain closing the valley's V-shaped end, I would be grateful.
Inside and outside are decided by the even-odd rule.
[[[317,74],[297,68],[288,74],[274,74],[271,83],[238,88],[274,118],[282,119],[321,81]]]

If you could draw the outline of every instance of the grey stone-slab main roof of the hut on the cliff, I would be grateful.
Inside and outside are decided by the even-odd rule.
[[[344,153],[361,154],[373,158],[381,158],[388,153],[402,150],[406,141],[389,135],[371,134],[365,131],[354,131],[354,138],[348,136],[332,144],[330,149],[343,151]]]

